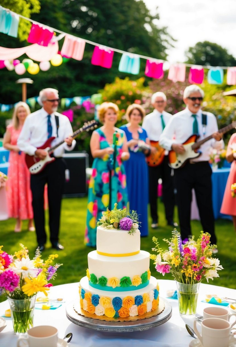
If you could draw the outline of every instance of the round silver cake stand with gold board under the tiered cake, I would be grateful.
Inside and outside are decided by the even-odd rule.
[[[108,318],[97,316],[81,309],[78,301],[66,306],[66,317],[74,324],[84,328],[99,331],[137,331],[147,330],[164,324],[172,316],[171,304],[160,298],[159,306],[155,311],[147,312],[143,316],[127,318]]]

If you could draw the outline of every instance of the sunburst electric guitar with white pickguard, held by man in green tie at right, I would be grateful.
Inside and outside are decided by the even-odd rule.
[[[235,127],[236,127],[236,121],[220,129],[219,133],[225,134],[227,131]],[[198,148],[206,141],[209,141],[212,138],[212,135],[196,142],[198,138],[199,138],[199,135],[193,134],[187,139],[187,141],[183,143],[183,146],[185,149],[185,152],[183,154],[178,154],[173,150],[169,152],[169,166],[171,168],[179,169],[186,163],[188,159],[198,158],[201,155],[201,152],[198,151]]]

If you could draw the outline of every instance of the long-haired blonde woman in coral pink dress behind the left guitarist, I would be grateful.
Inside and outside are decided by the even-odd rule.
[[[7,186],[7,202],[10,218],[16,218],[15,232],[21,231],[22,220],[29,219],[28,229],[34,231],[30,172],[25,163],[25,153],[17,146],[17,139],[30,109],[25,102],[18,102],[7,126],[3,146],[10,150]]]

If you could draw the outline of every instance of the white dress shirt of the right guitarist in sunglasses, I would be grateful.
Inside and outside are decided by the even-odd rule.
[[[202,111],[199,110],[196,115],[196,119],[198,122],[198,132],[200,137],[197,141],[204,139],[212,135],[215,132],[218,132],[218,125],[216,121],[216,117],[213,113],[207,113],[207,125],[203,127],[202,125]],[[185,110],[176,113],[176,115],[172,116],[168,125],[165,127],[162,135],[160,136],[160,145],[164,147],[166,150],[171,150],[171,146],[173,143],[180,144],[184,143],[192,134],[193,134],[193,121],[194,118],[192,116],[192,112],[187,108]],[[209,161],[210,159],[210,151],[211,148],[215,148],[217,150],[223,149],[224,141],[221,139],[220,141],[216,141],[214,138],[206,141],[201,145],[199,151],[202,153],[198,158],[194,159],[194,161]]]

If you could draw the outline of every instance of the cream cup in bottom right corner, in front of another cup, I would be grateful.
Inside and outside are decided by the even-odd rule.
[[[193,328],[203,347],[228,347],[233,335],[231,324],[225,319],[207,318],[201,323],[202,333],[197,329],[198,320],[194,320]]]

